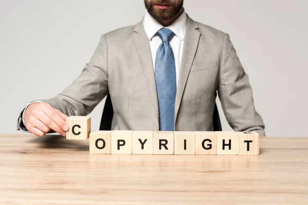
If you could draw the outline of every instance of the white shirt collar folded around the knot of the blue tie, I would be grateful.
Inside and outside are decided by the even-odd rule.
[[[146,10],[143,20],[143,27],[145,30],[145,33],[149,40],[152,39],[152,37],[162,28],[168,28],[172,32],[175,33],[176,36],[178,36],[182,41],[185,37],[185,30],[186,30],[186,12],[183,10],[182,14],[175,20],[174,23],[167,27],[163,27],[156,19],[154,19]]]

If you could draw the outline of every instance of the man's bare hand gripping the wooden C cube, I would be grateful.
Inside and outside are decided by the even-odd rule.
[[[50,130],[66,136],[68,130],[67,117],[48,103],[33,103],[28,106],[24,113],[27,130],[39,137],[43,137]]]

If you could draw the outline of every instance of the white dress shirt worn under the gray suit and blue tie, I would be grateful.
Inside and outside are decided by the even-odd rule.
[[[183,11],[182,14],[175,20],[174,23],[172,23],[170,26],[164,27],[156,19],[154,19],[146,10],[143,20],[143,27],[150,42],[154,71],[155,71],[157,50],[162,43],[162,40],[156,33],[162,28],[170,29],[172,32],[175,33],[175,36],[171,38],[169,43],[171,45],[172,51],[175,56],[177,85],[179,81],[179,73],[180,73],[183,46],[184,46],[186,19],[187,19],[186,12]]]

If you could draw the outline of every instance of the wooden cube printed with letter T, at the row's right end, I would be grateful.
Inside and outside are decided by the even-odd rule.
[[[260,137],[257,132],[238,132],[239,155],[259,155]]]

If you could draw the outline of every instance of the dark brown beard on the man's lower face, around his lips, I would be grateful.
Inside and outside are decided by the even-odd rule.
[[[172,0],[152,0],[148,3],[147,0],[144,0],[145,8],[156,20],[169,20],[177,16],[182,10],[183,2],[183,0],[176,3]],[[154,6],[156,4],[168,4],[170,6],[167,9],[159,9]]]

